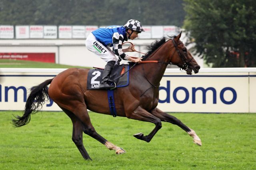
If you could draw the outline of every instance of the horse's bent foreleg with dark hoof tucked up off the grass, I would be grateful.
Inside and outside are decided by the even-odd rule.
[[[126,114],[126,117],[128,119],[135,119],[135,120],[140,120],[140,121],[151,122],[151,123],[154,123],[156,125],[156,127],[150,132],[150,134],[148,134],[146,136],[144,136],[143,133],[138,133],[138,134],[133,135],[134,137],[136,137],[137,139],[140,139],[142,141],[150,142],[151,139],[156,134],[156,132],[159,129],[161,129],[161,127],[162,127],[162,123],[161,123],[161,120],[159,118],[150,114],[145,109],[142,109],[142,107],[140,107],[140,106],[137,107],[137,109],[135,109],[133,112],[131,112],[131,113],[128,112],[128,114]]]

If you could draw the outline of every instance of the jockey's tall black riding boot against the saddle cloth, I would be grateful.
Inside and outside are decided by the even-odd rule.
[[[111,75],[111,71],[114,67],[114,64],[116,63],[116,61],[109,61],[105,68],[104,71],[102,73],[102,80],[100,83],[100,88],[101,89],[114,89],[116,88],[116,83],[112,82],[112,81],[108,81],[110,75]]]

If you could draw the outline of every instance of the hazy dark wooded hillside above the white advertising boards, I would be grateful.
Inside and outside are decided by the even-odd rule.
[[[142,25],[181,27],[183,0],[0,0],[0,24]]]

